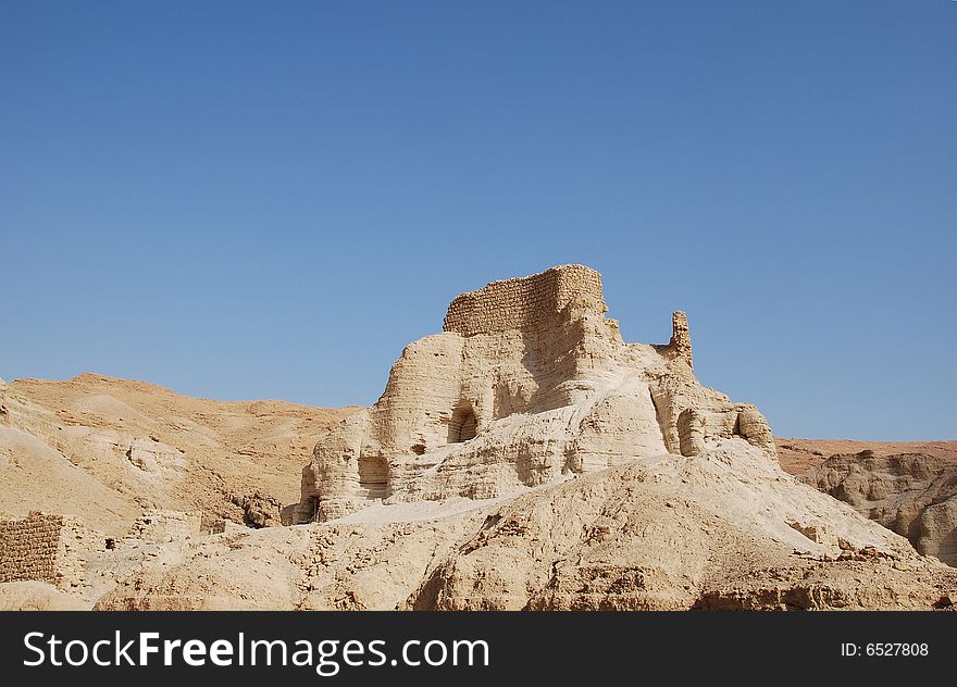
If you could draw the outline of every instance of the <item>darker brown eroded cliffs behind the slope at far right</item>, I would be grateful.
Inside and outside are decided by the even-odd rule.
[[[798,476],[957,566],[957,465],[922,453],[832,455]]]

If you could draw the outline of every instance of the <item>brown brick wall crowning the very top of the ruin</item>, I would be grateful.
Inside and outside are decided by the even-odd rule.
[[[552,267],[542,274],[493,282],[457,297],[443,330],[462,336],[533,329],[569,304],[606,312],[601,275],[584,265]]]

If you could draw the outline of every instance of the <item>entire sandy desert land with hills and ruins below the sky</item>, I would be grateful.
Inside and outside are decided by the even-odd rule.
[[[954,608],[957,442],[774,439],[605,312],[464,293],[368,409],[2,384],[0,608]]]

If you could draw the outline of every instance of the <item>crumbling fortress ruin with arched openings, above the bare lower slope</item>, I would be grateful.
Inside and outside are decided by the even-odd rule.
[[[442,334],[406,347],[378,401],[320,438],[296,522],[489,499],[734,437],[776,460],[754,405],[695,379],[683,312],[655,346],[625,344],[607,310],[600,275],[584,265],[457,297]]]

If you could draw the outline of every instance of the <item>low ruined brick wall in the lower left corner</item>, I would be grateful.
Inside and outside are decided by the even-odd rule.
[[[37,580],[61,589],[82,584],[84,559],[103,539],[76,517],[30,512],[0,520],[0,583]]]

